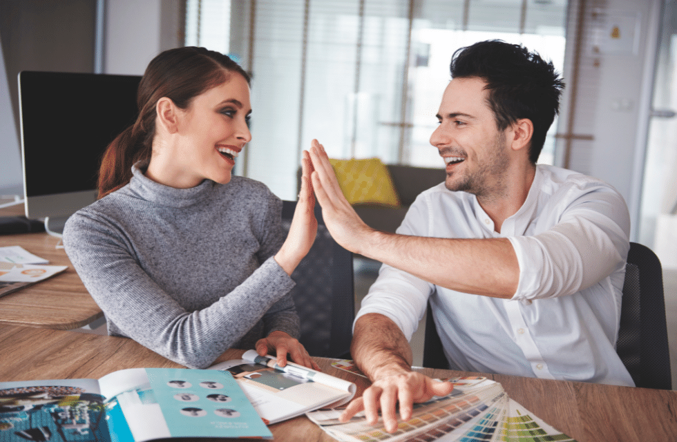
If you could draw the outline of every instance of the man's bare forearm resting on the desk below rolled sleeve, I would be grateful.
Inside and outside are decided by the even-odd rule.
[[[362,372],[374,379],[396,371],[410,371],[411,347],[390,318],[377,313],[361,316],[355,323],[350,353]]]

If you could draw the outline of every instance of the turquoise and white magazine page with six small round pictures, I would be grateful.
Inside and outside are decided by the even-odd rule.
[[[99,380],[135,442],[169,437],[271,439],[233,376],[194,369],[128,369]]]

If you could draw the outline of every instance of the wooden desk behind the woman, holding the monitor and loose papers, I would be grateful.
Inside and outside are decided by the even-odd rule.
[[[0,215],[13,214],[10,208]],[[15,208],[14,208],[15,209]],[[0,324],[50,329],[76,329],[104,316],[77,276],[59,238],[47,233],[0,235],[0,247],[21,246],[50,265],[67,265],[66,271],[0,298]]]

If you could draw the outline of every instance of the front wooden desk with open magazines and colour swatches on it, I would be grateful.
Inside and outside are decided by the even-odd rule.
[[[240,358],[231,349],[218,361]],[[180,367],[131,339],[0,325],[0,381],[99,378],[117,369]],[[367,387],[365,379],[315,358],[324,372]],[[461,372],[423,369],[444,378]],[[508,396],[578,442],[677,441],[677,392],[517,376],[484,375]],[[305,416],[270,426],[276,441],[333,441]]]

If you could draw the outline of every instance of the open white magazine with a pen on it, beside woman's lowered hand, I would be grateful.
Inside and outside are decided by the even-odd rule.
[[[321,407],[343,405],[355,395],[354,383],[294,363],[278,367],[273,356],[249,350],[242,359],[209,367],[230,372],[267,423]]]

